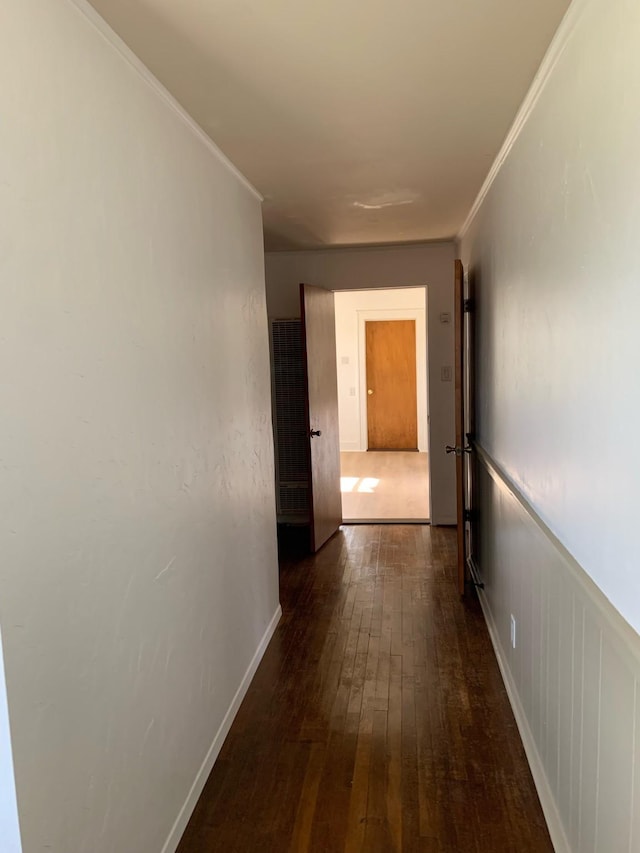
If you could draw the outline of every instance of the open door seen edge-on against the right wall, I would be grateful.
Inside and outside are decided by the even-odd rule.
[[[472,281],[467,282],[469,291],[465,299],[462,261],[456,260],[454,263],[456,443],[455,446],[447,445],[446,451],[456,455],[457,575],[458,591],[463,596],[469,579],[474,534],[472,503],[475,497],[475,468],[474,460],[470,458],[473,454],[473,433],[475,430],[472,322],[474,300],[471,293]]]

